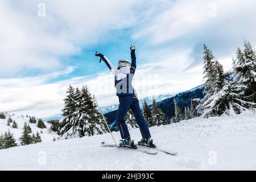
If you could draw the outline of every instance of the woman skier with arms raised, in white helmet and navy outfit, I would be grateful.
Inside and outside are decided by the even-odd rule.
[[[95,55],[100,57],[101,60],[106,63],[115,77],[115,87],[117,89],[117,96],[119,98],[117,118],[115,122],[118,125],[122,137],[122,140],[120,140],[121,143],[119,145],[121,147],[129,147],[134,149],[137,148],[137,146],[134,144],[134,141],[130,138],[129,130],[124,120],[127,111],[131,109],[142,134],[142,139],[138,142],[138,144],[155,148],[156,146],[153,144],[153,140],[151,139],[147,122],[142,115],[141,107],[139,106],[139,100],[135,94],[133,85],[131,85],[137,65],[135,46],[131,46],[130,50],[131,63],[127,59],[119,60],[118,68],[115,68],[108,57],[102,55],[100,52],[96,52]]]

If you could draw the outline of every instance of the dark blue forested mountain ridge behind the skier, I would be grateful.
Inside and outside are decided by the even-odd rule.
[[[160,109],[162,109],[163,113],[166,114],[166,118],[170,119],[175,116],[174,100],[177,101],[177,104],[181,107],[181,110],[184,111],[185,107],[187,106],[190,107],[192,98],[202,99],[204,97],[204,87],[205,87],[204,84],[199,85],[191,90],[178,93],[175,96],[168,97],[161,101],[156,101],[157,105]],[[160,98],[164,98],[164,97],[160,97]],[[147,103],[151,104],[150,98]],[[114,110],[114,111],[111,111],[110,113],[106,113],[105,117],[108,119],[109,123],[112,123],[115,120],[116,115],[117,115],[117,110]]]

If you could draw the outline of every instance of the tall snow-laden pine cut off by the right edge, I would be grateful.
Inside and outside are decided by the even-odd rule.
[[[233,69],[236,92],[239,98],[256,103],[256,53],[250,42],[244,42],[243,51],[241,48],[237,49]],[[246,106],[250,107],[250,104],[246,104]]]

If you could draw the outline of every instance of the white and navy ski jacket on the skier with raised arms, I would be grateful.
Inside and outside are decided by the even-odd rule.
[[[135,90],[132,85],[133,76],[137,67],[135,53],[131,53],[130,68],[122,67],[120,69],[117,69],[106,56],[103,56],[102,60],[104,60],[104,62],[115,77],[117,96],[135,96]]]

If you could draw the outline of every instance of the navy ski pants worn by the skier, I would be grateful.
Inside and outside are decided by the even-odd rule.
[[[116,121],[122,139],[130,137],[129,130],[124,121],[126,113],[129,111],[129,109],[133,111],[135,121],[138,123],[139,129],[141,130],[142,138],[151,138],[147,122],[142,115],[141,107],[139,107],[138,98],[136,96],[119,96],[119,106]]]

